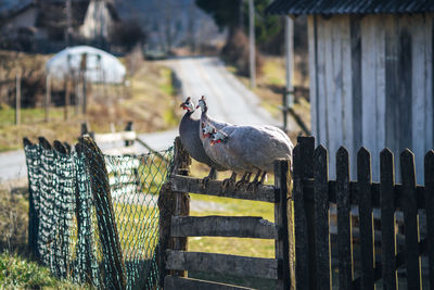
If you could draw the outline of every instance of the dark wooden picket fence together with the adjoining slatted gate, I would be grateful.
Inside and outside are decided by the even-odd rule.
[[[425,155],[425,186],[417,186],[411,151],[399,156],[403,184],[395,184],[388,149],[380,163],[380,182],[372,182],[370,152],[360,149],[357,180],[350,180],[348,152],[341,148],[336,180],[329,180],[326,148],[315,149],[312,137],[299,137],[291,196],[284,162],[276,163],[275,186],[255,193],[225,191],[220,181],[203,188],[200,179],[186,176],[190,160],[178,140],[176,165],[158,202],[161,267],[166,268],[161,283],[166,289],[244,289],[186,277],[184,270],[204,270],[271,277],[280,289],[434,288],[434,151]],[[276,224],[260,217],[188,216],[187,192],[273,202]],[[275,239],[276,260],[188,252],[192,236]]]

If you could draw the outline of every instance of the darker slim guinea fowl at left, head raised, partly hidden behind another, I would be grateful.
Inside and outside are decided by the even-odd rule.
[[[208,179],[214,179],[217,171],[225,171],[225,167],[215,163],[206,154],[202,141],[200,139],[200,124],[201,122],[192,117],[194,113],[194,103],[191,98],[187,98],[184,102],[180,104],[183,110],[187,110],[183,115],[181,123],[179,124],[179,137],[182,146],[189,152],[190,156],[195,161],[204,163],[210,167],[209,174],[204,178],[206,182]]]

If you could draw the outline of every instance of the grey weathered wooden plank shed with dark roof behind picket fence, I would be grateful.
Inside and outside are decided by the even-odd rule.
[[[423,184],[423,156],[434,144],[434,1],[276,0],[267,11],[308,15],[311,127],[329,162],[345,146],[354,177],[363,146],[379,180],[378,153],[409,148]]]

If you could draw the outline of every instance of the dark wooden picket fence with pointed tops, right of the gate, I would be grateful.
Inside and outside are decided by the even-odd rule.
[[[357,166],[353,166],[357,181],[349,179],[345,148],[336,154],[336,180],[329,180],[328,152],[322,146],[315,149],[311,137],[298,138],[293,162],[296,289],[331,289],[332,285],[339,285],[340,289],[374,289],[380,281],[383,289],[397,289],[398,268],[405,269],[407,289],[422,289],[422,255],[427,255],[429,273],[423,282],[433,289],[434,151],[427,152],[424,159],[424,187],[416,184],[414,156],[409,150],[399,156],[403,180],[399,185],[394,181],[394,156],[388,149],[380,154],[380,182],[372,182],[370,152],[363,148],[358,151]],[[333,248],[337,252],[339,274],[332,276],[331,262],[335,255],[331,251],[329,210],[334,204],[337,236]],[[356,219],[352,215],[355,206],[358,207]],[[381,211],[380,220],[373,218],[375,210]],[[400,212],[405,239],[398,247],[396,216]],[[421,213],[426,217],[424,228],[419,224]],[[353,235],[355,220],[359,231],[357,241]],[[374,235],[374,229],[380,230],[380,237]],[[421,229],[425,232],[423,236]],[[360,261],[355,261],[355,256],[360,256]]]

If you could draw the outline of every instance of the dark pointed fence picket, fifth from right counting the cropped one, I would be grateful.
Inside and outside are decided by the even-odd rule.
[[[353,236],[349,196],[349,156],[341,147],[336,154],[336,199],[337,199],[337,255],[340,289],[353,285]]]

